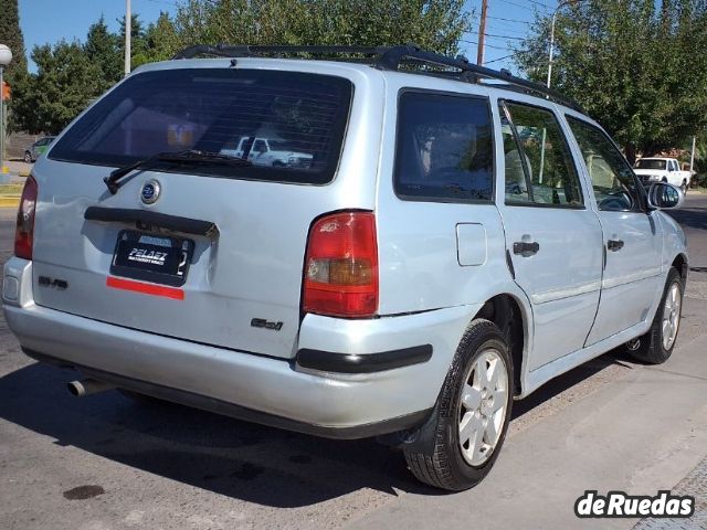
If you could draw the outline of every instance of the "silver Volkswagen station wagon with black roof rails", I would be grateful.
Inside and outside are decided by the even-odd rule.
[[[258,141],[299,155],[254,163]],[[613,348],[671,356],[687,251],[661,210],[682,201],[507,72],[414,46],[196,46],[38,160],[2,301],[27,354],[86,375],[77,395],[378,436],[458,490],[514,400]]]

